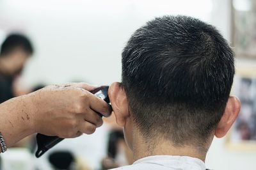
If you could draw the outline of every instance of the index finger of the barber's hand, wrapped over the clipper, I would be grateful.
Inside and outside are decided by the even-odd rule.
[[[89,98],[90,108],[93,111],[99,112],[104,117],[110,116],[112,109],[107,102],[102,100],[102,98],[99,98],[99,97],[93,95],[90,92],[88,92],[88,98]]]

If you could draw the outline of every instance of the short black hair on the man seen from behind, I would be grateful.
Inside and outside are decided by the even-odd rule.
[[[122,84],[146,139],[205,144],[225,110],[234,53],[214,26],[186,16],[157,17],[122,52]]]

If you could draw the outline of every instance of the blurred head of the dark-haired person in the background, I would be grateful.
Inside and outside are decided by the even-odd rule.
[[[33,47],[24,35],[12,34],[7,36],[1,45],[0,63],[2,72],[8,75],[20,73],[29,56],[33,54]]]

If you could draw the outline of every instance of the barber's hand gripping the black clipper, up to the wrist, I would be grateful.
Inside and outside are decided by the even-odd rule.
[[[35,106],[35,132],[58,137],[92,134],[109,116],[109,105],[89,91],[95,87],[86,83],[47,86],[31,93]]]

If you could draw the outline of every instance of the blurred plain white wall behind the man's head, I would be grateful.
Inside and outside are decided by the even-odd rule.
[[[147,20],[191,15],[218,27],[230,40],[229,4],[230,0],[0,0],[0,36],[20,30],[35,43],[36,53],[23,76],[28,86],[76,80],[110,84],[120,81],[125,42]],[[255,152],[229,151],[224,142],[214,139],[207,167],[255,169]]]

